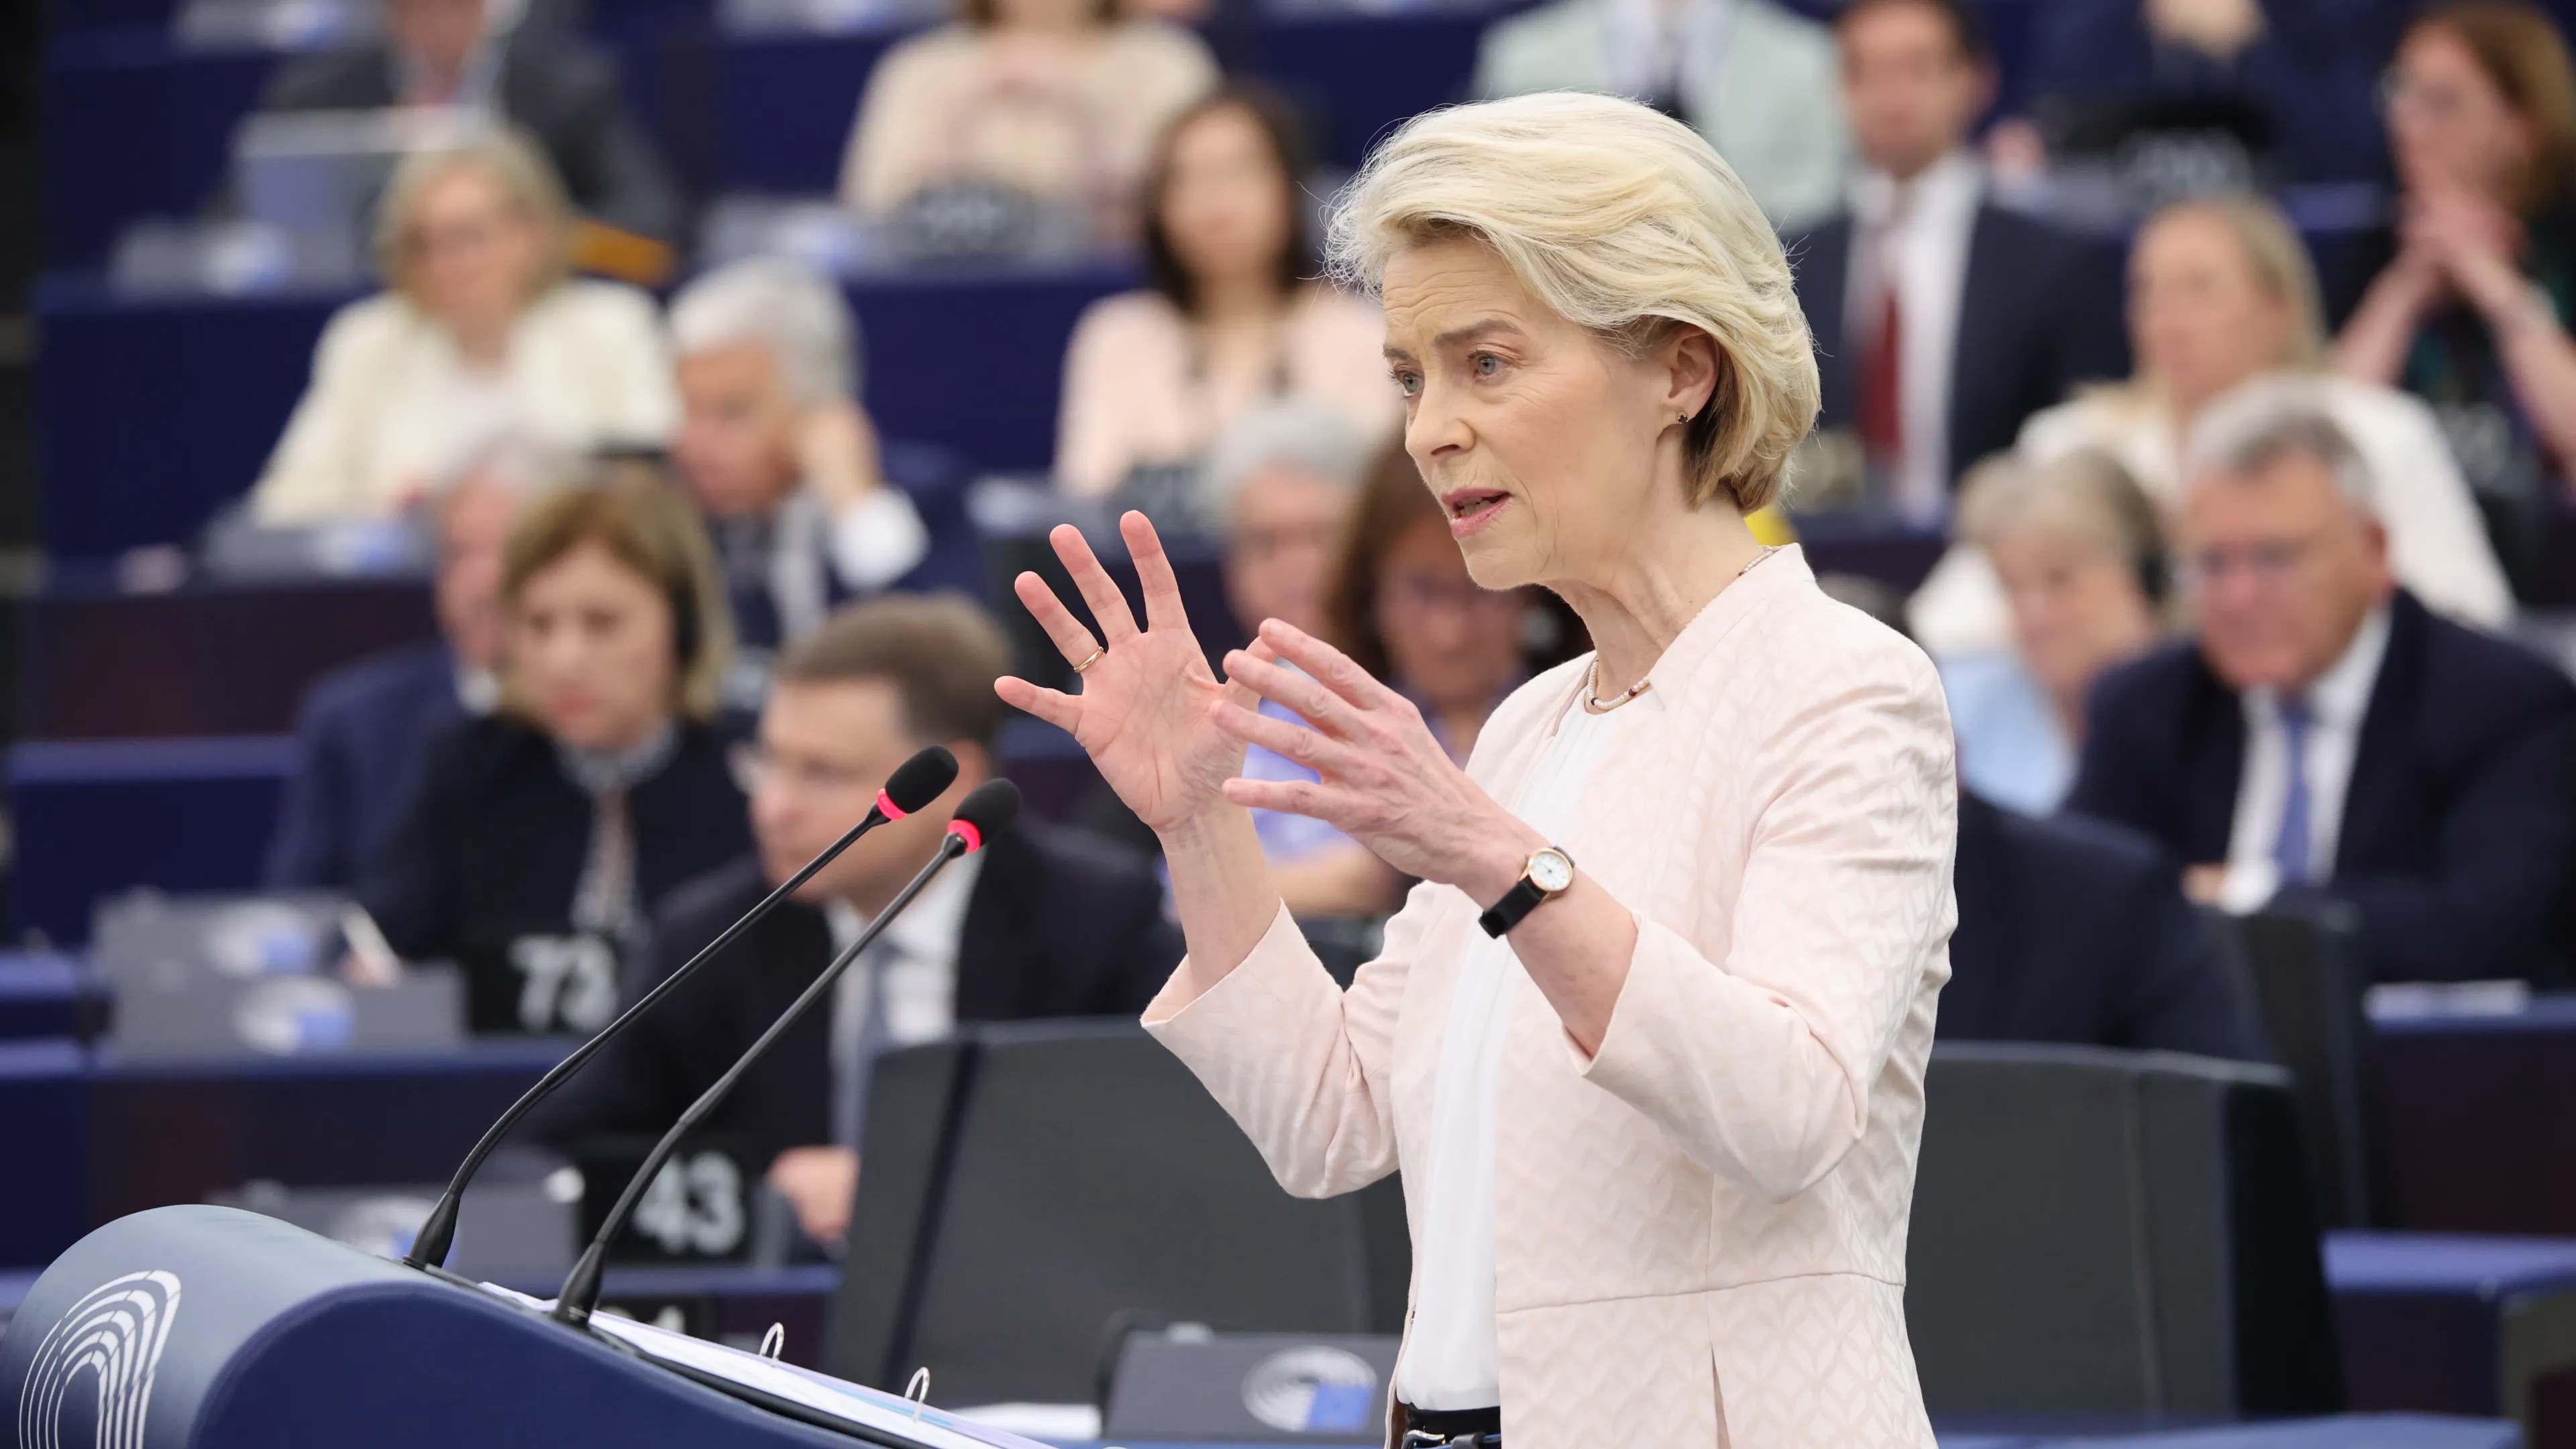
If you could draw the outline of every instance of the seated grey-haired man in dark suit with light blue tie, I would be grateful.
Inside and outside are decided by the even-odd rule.
[[[2187,451],[2200,637],[2094,686],[2066,807],[2228,910],[2349,905],[2375,980],[2566,980],[2576,683],[2391,580],[2331,415],[2254,394]]]

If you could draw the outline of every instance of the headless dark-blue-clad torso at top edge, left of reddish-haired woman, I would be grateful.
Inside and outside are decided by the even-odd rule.
[[[2030,111],[2061,152],[2228,131],[2280,180],[2378,180],[2372,85],[2388,0],[2045,0]],[[2205,165],[2205,162],[2202,162]]]

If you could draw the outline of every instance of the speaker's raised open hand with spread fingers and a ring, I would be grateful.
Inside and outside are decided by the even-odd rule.
[[[1118,521],[1118,534],[1144,580],[1146,627],[1136,627],[1126,596],[1082,531],[1059,526],[1048,541],[1092,606],[1103,637],[1092,637],[1038,575],[1023,572],[1012,590],[1064,650],[1064,663],[1079,668],[1082,694],[1010,676],[994,681],[994,691],[1005,704],[1072,732],[1118,799],[1157,833],[1172,833],[1224,810],[1224,784],[1244,766],[1242,740],[1218,730],[1211,712],[1224,699],[1239,706],[1260,701],[1242,686],[1218,683],[1208,670],[1154,523],[1144,513],[1128,513]]]

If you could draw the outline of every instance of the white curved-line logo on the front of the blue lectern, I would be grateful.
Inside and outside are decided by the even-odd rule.
[[[93,1405],[93,1449],[142,1449],[152,1374],[178,1318],[178,1274],[144,1271],[108,1279],[36,1346],[18,1390],[18,1449],[67,1449],[64,1410]],[[77,1390],[88,1390],[80,1395]],[[72,1418],[77,1444],[80,1418]]]

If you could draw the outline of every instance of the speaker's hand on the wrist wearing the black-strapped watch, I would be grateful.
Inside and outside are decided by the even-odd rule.
[[[1234,804],[1311,815],[1399,871],[1455,884],[1479,905],[1502,900],[1530,853],[1548,846],[1448,758],[1409,699],[1303,629],[1265,621],[1252,650],[1226,655],[1226,678],[1314,727],[1234,701],[1213,706],[1216,727],[1324,776],[1231,779],[1224,789]]]

